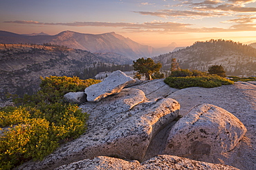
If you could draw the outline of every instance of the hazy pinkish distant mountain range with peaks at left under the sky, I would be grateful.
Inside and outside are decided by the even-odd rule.
[[[0,43],[33,43],[41,45],[51,43],[72,47],[74,49],[87,50],[89,52],[113,52],[126,56],[131,60],[172,52],[176,47],[176,43],[171,43],[167,47],[156,49],[148,45],[136,43],[115,32],[105,34],[82,34],[64,31],[51,36],[43,32],[24,35],[0,31]]]

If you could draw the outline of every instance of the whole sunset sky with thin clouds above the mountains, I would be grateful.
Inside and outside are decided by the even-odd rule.
[[[143,45],[256,42],[256,0],[0,0],[0,30],[116,32]]]

